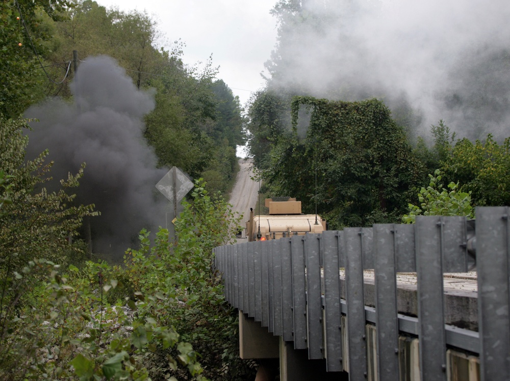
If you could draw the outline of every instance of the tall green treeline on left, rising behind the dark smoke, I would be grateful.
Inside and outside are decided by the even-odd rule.
[[[91,0],[72,6],[64,0],[3,2],[1,17],[1,115],[19,115],[46,96],[71,99],[74,64],[111,56],[138,89],[156,90],[145,137],[156,149],[159,166],[204,177],[212,191],[226,194],[237,171],[236,145],[244,142],[242,109],[223,81],[215,80],[211,60],[184,65],[184,44],[159,48],[162,36],[149,15],[107,9]],[[75,63],[73,50],[79,56]]]

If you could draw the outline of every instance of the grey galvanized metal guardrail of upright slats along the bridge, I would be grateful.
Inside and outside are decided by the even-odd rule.
[[[477,207],[476,218],[478,332],[446,325],[444,316],[443,273],[473,264],[465,217],[418,216],[414,225],[376,224],[222,246],[214,249],[216,267],[228,303],[293,341],[295,349],[308,349],[310,359],[325,358],[328,371],[341,371],[348,361],[351,380],[366,379],[367,322],[376,326],[380,381],[399,379],[402,333],[419,338],[422,380],[446,380],[448,346],[478,353],[482,380],[510,379],[510,208]],[[365,269],[374,269],[375,308],[364,301]],[[417,274],[417,317],[397,312],[399,272]]]

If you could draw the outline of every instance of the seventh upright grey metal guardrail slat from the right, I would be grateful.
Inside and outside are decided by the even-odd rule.
[[[307,348],[307,301],[304,280],[304,238],[292,236],[292,301],[294,306],[294,349]]]

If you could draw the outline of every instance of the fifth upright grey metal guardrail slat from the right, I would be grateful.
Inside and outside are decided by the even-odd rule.
[[[325,231],[321,236],[321,261],[324,269],[324,347],[326,370],[341,372],[342,322],[340,276],[338,265],[338,231]]]

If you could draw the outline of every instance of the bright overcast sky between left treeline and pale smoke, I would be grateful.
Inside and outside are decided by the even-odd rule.
[[[96,0],[107,8],[146,11],[158,23],[171,49],[181,39],[187,64],[219,66],[223,79],[244,105],[250,92],[263,87],[260,73],[276,43],[276,19],[269,14],[276,0]]]

